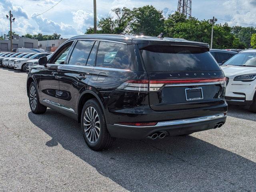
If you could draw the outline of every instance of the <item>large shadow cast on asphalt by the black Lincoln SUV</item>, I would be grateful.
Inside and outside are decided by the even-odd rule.
[[[109,150],[90,150],[80,124],[48,109],[31,122],[74,155],[129,191],[252,191],[256,163],[193,136],[116,139]]]

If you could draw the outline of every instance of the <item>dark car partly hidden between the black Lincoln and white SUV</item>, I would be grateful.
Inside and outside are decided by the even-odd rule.
[[[223,62],[237,54],[237,52],[223,49],[211,49],[210,53],[214,56],[219,65],[222,65]]]

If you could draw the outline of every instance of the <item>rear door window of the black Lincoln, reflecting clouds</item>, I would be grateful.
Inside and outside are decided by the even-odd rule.
[[[78,41],[70,56],[68,64],[70,65],[86,65],[89,54],[92,50],[94,41]]]

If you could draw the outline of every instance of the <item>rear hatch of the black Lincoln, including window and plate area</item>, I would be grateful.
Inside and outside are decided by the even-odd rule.
[[[208,47],[139,44],[153,110],[205,108],[224,103],[225,77]]]

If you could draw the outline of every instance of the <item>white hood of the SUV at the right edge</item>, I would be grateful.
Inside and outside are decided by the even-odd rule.
[[[256,67],[245,67],[245,66],[220,66],[228,78],[235,78],[239,75],[256,74]]]

